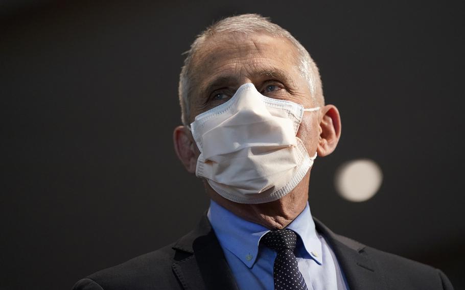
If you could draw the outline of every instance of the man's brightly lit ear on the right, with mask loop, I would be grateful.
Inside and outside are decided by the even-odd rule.
[[[321,120],[319,124],[318,156],[324,157],[333,153],[341,137],[341,117],[334,105],[326,105],[321,108]]]

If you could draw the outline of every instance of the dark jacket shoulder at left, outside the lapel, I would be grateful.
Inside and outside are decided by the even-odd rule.
[[[172,264],[186,254],[175,251],[174,244],[132,258],[79,280],[73,290],[180,289]]]

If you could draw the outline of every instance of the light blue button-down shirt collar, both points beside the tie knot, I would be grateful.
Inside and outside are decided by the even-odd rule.
[[[270,230],[239,218],[213,200],[210,202],[207,216],[221,247],[233,253],[248,268],[252,268],[257,259],[260,239]],[[321,241],[316,234],[308,202],[305,209],[286,228],[293,230],[300,237],[303,243],[303,247],[299,247],[297,243],[300,255],[321,264]]]

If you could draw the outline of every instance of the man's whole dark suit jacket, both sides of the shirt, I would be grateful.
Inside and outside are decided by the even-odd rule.
[[[333,233],[315,220],[336,254],[351,290],[453,289],[438,269]],[[74,290],[238,289],[210,222],[175,244],[79,280]]]

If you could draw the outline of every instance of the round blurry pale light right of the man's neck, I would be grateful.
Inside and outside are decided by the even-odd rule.
[[[336,190],[344,199],[362,202],[372,198],[381,186],[383,173],[375,161],[357,159],[342,164],[335,176]]]

